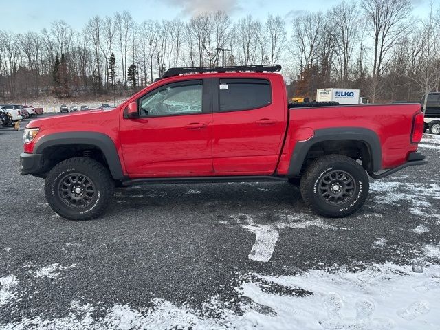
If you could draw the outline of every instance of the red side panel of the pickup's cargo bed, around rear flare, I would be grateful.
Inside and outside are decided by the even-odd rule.
[[[361,127],[377,133],[382,145],[382,169],[404,164],[408,153],[417,150],[410,142],[412,118],[419,104],[353,105],[341,107],[289,109],[289,129],[278,166],[286,174],[296,142],[303,140],[298,132],[333,127]]]

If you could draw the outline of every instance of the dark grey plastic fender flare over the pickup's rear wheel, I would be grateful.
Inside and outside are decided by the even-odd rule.
[[[377,136],[375,131],[360,127],[338,127],[317,129],[314,133],[314,136],[309,140],[296,142],[294,152],[290,159],[287,177],[296,177],[300,175],[301,168],[303,167],[303,163],[311,146],[318,142],[325,141],[351,140],[364,142],[369,148],[371,163],[373,166],[372,171],[377,172],[382,169],[382,145],[380,144],[379,136]]]

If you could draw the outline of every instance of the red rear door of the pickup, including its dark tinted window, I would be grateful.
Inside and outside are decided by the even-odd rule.
[[[214,172],[274,173],[285,133],[287,101],[283,96],[274,98],[268,79],[213,78],[212,82]]]

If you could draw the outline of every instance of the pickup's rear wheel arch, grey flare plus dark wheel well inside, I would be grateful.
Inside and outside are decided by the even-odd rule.
[[[320,149],[323,152],[314,155]],[[309,140],[297,142],[287,176],[300,176],[309,162],[322,155],[340,154],[355,159],[354,151],[360,153],[366,171],[371,173],[382,169],[382,145],[377,134],[371,129],[342,127],[318,129]]]

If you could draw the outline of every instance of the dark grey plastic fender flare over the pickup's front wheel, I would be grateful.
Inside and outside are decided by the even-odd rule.
[[[45,135],[37,140],[34,146],[34,153],[43,153],[45,148],[51,146],[66,146],[74,144],[89,144],[100,148],[105,160],[109,165],[109,170],[113,179],[123,180],[121,160],[116,150],[116,146],[109,135],[91,131],[75,131],[65,133],[54,133]]]

